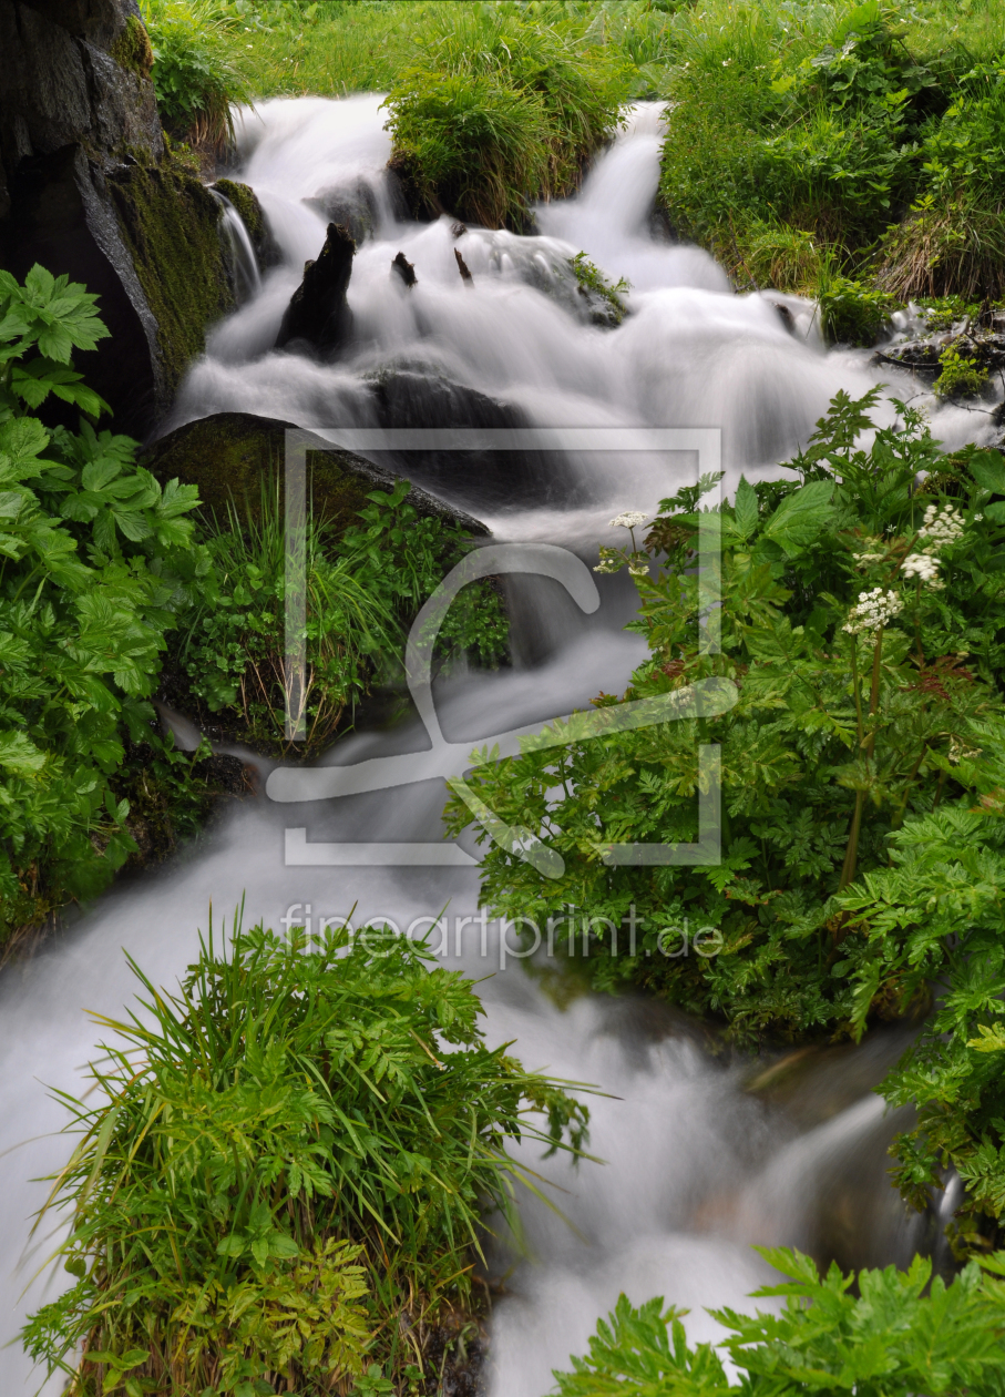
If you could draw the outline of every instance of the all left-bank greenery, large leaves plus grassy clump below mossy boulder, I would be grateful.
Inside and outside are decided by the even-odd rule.
[[[258,524],[232,514],[200,536],[195,486],[158,482],[135,441],[98,432],[106,405],[73,367],[107,334],[95,299],[40,267],[24,285],[0,272],[0,942],[205,813],[208,752],[188,759],[155,725],[166,655],[253,739],[275,745],[285,712],[275,500]],[[84,414],[77,432],[36,415],[53,398]],[[462,556],[462,529],[420,518],[406,493],[375,492],[338,541],[310,525],[314,745],[374,676],[398,680],[408,620]],[[500,599],[487,583],[468,592],[442,658],[496,664]]]

